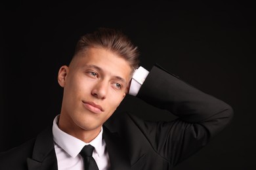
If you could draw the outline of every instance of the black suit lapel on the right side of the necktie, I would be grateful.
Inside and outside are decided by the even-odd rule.
[[[123,148],[119,135],[112,133],[106,126],[103,126],[103,138],[106,142],[108,155],[110,156],[110,165],[112,170],[116,169],[131,169],[127,151]]]

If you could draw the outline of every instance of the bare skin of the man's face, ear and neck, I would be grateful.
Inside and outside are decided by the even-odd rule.
[[[131,67],[104,48],[90,47],[77,55],[58,73],[64,88],[58,127],[89,143],[129,92]]]

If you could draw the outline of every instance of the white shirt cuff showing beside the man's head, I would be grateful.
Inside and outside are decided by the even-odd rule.
[[[146,79],[146,76],[148,76],[148,73],[149,71],[147,71],[141,66],[139,67],[139,69],[135,71],[135,73],[133,73],[133,78],[131,80],[131,86],[129,90],[130,95],[137,95],[137,93],[140,90],[140,87],[142,86],[144,80]]]

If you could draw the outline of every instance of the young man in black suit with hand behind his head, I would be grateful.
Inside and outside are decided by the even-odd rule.
[[[146,71],[138,56],[137,47],[115,29],[81,37],[70,65],[58,73],[64,93],[53,126],[1,154],[0,169],[83,169],[87,160],[80,151],[87,145],[93,146],[96,169],[171,169],[229,124],[229,105],[158,65]],[[128,93],[179,118],[112,116]]]

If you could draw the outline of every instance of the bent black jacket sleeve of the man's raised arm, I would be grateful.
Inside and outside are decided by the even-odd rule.
[[[140,128],[156,152],[174,167],[205,146],[232,120],[233,110],[155,65],[137,95],[146,103],[169,110],[176,120],[143,122]]]

